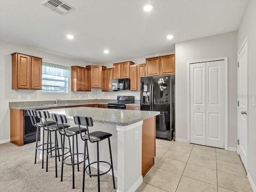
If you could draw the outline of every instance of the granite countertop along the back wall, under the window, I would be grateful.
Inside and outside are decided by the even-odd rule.
[[[108,103],[115,103],[115,102],[82,102],[82,103],[66,103],[66,104],[37,104],[37,105],[24,105],[24,106],[9,106],[10,109],[19,109],[19,110],[27,110],[27,109],[50,109],[55,107],[68,107],[68,106],[80,106],[80,105],[91,105],[91,104],[101,104],[101,105],[107,105]],[[117,103],[117,102],[116,102]],[[35,102],[36,104],[36,102]],[[140,106],[140,103],[130,103],[126,104],[127,106]]]

